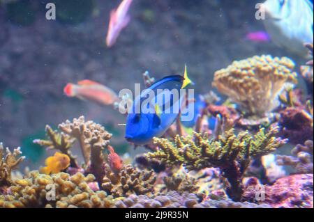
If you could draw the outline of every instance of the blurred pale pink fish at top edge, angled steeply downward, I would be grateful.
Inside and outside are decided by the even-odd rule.
[[[112,47],[114,42],[116,42],[120,32],[124,29],[128,22],[130,22],[130,17],[128,16],[128,9],[133,0],[123,0],[119,7],[111,11],[110,22],[107,32],[106,44],[107,47]]]

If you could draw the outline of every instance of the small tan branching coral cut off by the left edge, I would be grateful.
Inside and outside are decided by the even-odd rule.
[[[0,187],[13,184],[11,172],[13,169],[17,168],[20,162],[25,158],[20,157],[20,154],[22,154],[20,148],[10,152],[8,148],[4,150],[2,143],[0,143]]]

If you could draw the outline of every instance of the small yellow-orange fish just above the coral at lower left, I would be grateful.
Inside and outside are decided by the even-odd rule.
[[[59,173],[70,166],[70,157],[66,154],[56,152],[52,157],[45,160],[45,167],[40,168],[40,173]]]

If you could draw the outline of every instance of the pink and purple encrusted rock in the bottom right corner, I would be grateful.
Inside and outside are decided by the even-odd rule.
[[[264,196],[256,200],[256,184],[246,188],[243,201],[265,203],[271,207],[313,208],[313,174],[290,175],[273,185],[264,185]],[[260,186],[259,186],[260,187]]]

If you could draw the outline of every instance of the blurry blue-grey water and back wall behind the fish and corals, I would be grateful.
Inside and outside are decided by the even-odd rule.
[[[47,3],[56,4],[57,19],[46,19]],[[107,47],[110,11],[119,3],[0,0],[0,141],[5,147],[21,148],[26,158],[19,165],[20,171],[25,167],[38,170],[54,154],[55,150],[45,151],[33,143],[47,138],[46,125],[57,129],[59,123],[80,116],[103,125],[112,134],[110,145],[125,163],[134,164],[137,154],[149,151],[143,146],[135,149],[124,138],[125,127],[119,124],[126,122],[126,116],[112,106],[66,96],[63,88],[68,83],[89,79],[115,92],[133,90],[135,83],[142,84],[147,70],[151,77],[162,79],[182,74],[186,64],[195,94],[213,90],[224,102],[227,94],[220,93],[212,82],[214,73],[233,61],[264,54],[286,56],[299,72],[309,60],[271,40],[248,38],[248,33],[267,33],[263,22],[255,19],[259,0],[133,1],[128,12],[130,22],[114,45]],[[308,99],[313,102],[313,88],[308,88],[301,74],[296,79],[296,88],[304,93],[302,104]],[[312,135],[295,143],[287,141],[276,153],[288,155],[295,145],[313,140],[313,106],[311,121]],[[79,145],[71,151],[78,162],[84,161]],[[291,167],[285,168],[285,175],[291,172]]]

